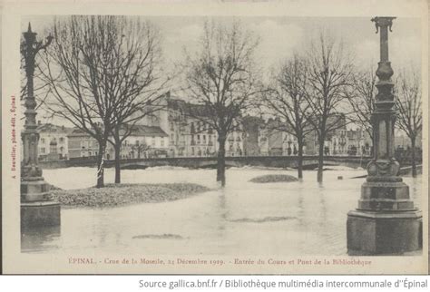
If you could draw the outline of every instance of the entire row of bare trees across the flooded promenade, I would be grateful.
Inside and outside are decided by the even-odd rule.
[[[161,96],[169,79],[161,70],[160,33],[148,22],[121,16],[71,16],[54,21],[53,33],[54,42],[39,61],[40,81],[49,88],[45,110],[98,142],[97,187],[103,187],[103,154],[112,143],[119,183],[122,141],[136,122],[163,110]],[[299,178],[305,137],[315,134],[321,182],[324,142],[330,131],[345,126],[341,120],[346,113],[347,122],[359,123],[372,135],[375,73],[356,73],[344,45],[321,33],[263,83],[258,46],[259,38],[239,22],[206,22],[200,47],[185,55],[181,75],[184,96],[200,104],[204,114],[186,114],[217,131],[217,180],[222,186],[226,139],[249,112],[277,117],[277,130],[297,138]],[[399,76],[397,121],[414,148],[422,127],[419,78]]]

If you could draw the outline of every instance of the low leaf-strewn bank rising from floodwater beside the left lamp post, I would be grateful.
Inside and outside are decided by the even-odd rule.
[[[104,188],[54,190],[53,198],[69,207],[117,207],[181,200],[210,190],[195,183],[107,184]]]

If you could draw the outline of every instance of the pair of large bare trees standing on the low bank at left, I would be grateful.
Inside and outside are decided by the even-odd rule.
[[[49,87],[44,110],[89,134],[99,145],[97,184],[104,185],[103,157],[115,150],[115,182],[121,182],[122,142],[136,122],[157,111],[161,89],[158,30],[123,16],[71,16],[55,20],[54,42],[39,60],[40,82]]]

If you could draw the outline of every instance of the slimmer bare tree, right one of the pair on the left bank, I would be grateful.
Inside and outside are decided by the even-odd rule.
[[[121,182],[120,153],[122,142],[132,134],[143,117],[163,108],[162,87],[167,78],[161,74],[161,46],[158,30],[150,23],[117,19],[122,34],[112,47],[112,143],[115,151],[115,183]]]

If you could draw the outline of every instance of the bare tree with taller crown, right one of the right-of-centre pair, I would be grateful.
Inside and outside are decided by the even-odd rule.
[[[326,34],[319,34],[307,56],[308,86],[306,99],[311,123],[318,137],[318,182],[323,181],[324,141],[327,133],[345,126],[341,107],[351,85],[352,63],[343,44]]]

